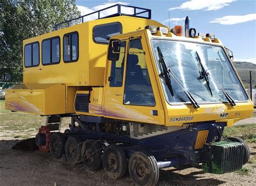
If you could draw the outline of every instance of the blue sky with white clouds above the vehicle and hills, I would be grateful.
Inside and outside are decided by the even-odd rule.
[[[151,9],[151,18],[169,25],[184,25],[190,17],[190,27],[197,32],[212,33],[233,51],[235,61],[256,64],[256,0],[77,0],[81,15],[114,4]]]

